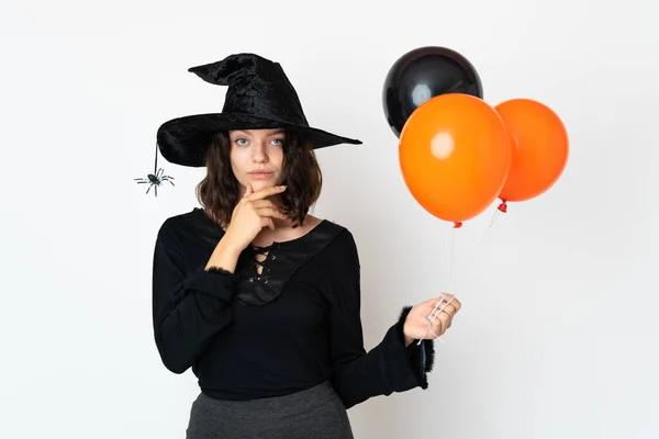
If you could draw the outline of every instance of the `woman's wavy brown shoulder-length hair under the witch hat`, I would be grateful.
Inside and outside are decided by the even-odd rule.
[[[239,183],[231,167],[231,138],[217,133],[205,157],[206,176],[197,185],[197,199],[211,219],[221,227],[228,226],[238,202]],[[287,132],[283,140],[282,212],[293,219],[293,227],[302,225],[309,209],[321,195],[323,176],[313,145],[295,132]]]

